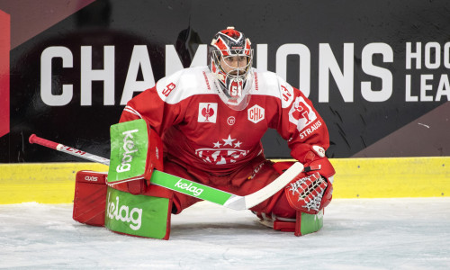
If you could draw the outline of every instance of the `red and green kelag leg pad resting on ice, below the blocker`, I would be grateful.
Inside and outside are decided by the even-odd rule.
[[[144,194],[127,192],[127,183],[114,189],[106,173],[76,173],[73,219],[114,232],[146,238],[168,239],[173,192],[157,185]]]

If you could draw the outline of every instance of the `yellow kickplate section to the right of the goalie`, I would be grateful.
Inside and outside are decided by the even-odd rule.
[[[334,198],[450,196],[450,157],[335,158]]]

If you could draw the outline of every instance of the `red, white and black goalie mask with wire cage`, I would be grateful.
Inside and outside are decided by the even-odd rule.
[[[219,31],[211,41],[211,73],[220,98],[231,109],[247,107],[252,82],[253,49],[250,40],[234,27]]]

